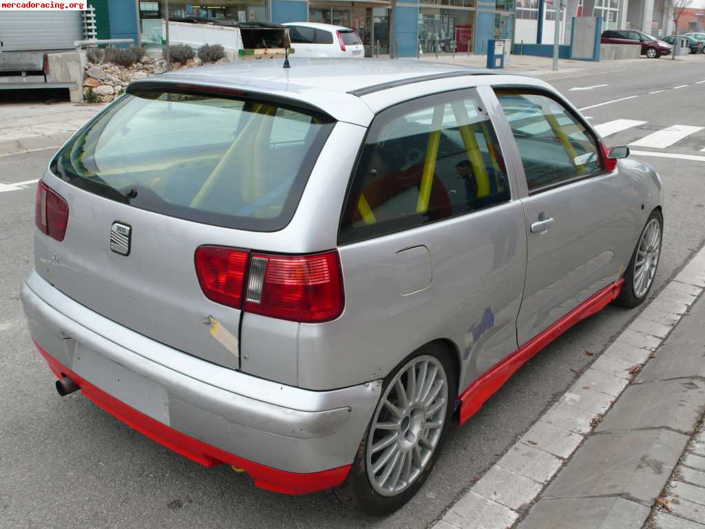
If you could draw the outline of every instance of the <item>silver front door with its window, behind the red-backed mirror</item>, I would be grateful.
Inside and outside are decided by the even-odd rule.
[[[637,199],[618,171],[603,169],[596,135],[558,95],[533,87],[496,95],[521,162],[517,181],[527,186],[522,346],[618,281],[633,250]]]

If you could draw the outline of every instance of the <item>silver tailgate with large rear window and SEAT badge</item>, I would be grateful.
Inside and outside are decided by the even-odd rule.
[[[197,248],[266,250],[266,232],[292,219],[333,121],[208,90],[143,83],[59,151],[44,183],[66,200],[68,225],[61,241],[37,231],[36,269],[135,332],[238,368],[240,308],[204,293]],[[245,273],[210,279],[227,291]]]

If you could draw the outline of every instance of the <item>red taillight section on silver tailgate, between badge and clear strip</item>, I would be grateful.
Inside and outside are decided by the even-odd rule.
[[[198,282],[209,300],[240,308],[247,256],[246,251],[225,246],[200,246],[196,249]]]

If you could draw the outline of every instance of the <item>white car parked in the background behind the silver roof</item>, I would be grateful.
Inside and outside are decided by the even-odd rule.
[[[341,25],[316,22],[290,22],[291,47],[297,57],[347,57],[364,56],[364,46],[355,30]]]

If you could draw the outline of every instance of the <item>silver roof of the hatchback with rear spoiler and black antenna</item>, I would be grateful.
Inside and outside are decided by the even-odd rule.
[[[462,68],[412,59],[297,59],[290,56],[290,68],[282,59],[234,61],[187,68],[130,83],[133,87],[155,83],[176,83],[181,87],[216,87],[253,95],[291,100],[319,109],[337,121],[368,126],[374,114],[397,102],[445,90],[492,84],[494,78],[511,78],[513,83],[548,86],[517,75],[495,75],[479,68]]]

